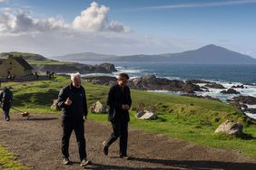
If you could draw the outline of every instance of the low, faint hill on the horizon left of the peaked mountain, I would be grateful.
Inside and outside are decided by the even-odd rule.
[[[63,56],[54,56],[51,58],[59,61],[112,61],[116,57],[117,56],[115,55],[105,55],[94,52],[81,52],[66,54]]]

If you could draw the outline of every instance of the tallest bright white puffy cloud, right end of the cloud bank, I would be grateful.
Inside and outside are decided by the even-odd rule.
[[[108,12],[110,8],[104,5],[99,6],[93,2],[79,16],[74,18],[73,27],[79,31],[103,32],[113,31],[118,33],[129,33],[131,29],[119,22],[109,23]]]

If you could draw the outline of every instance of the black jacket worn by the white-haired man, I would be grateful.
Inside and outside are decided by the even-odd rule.
[[[72,100],[70,106],[64,104],[67,98]],[[88,114],[84,88],[75,88],[72,83],[64,87],[60,90],[57,106],[62,109],[64,118],[84,118]]]

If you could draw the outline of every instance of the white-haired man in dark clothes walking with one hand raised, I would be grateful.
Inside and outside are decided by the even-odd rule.
[[[84,138],[84,121],[87,120],[87,102],[84,87],[81,86],[81,75],[79,72],[71,74],[71,83],[60,90],[57,106],[62,109],[62,153],[64,165],[71,164],[69,159],[69,139],[74,130],[78,144],[81,166],[91,163],[86,156]]]

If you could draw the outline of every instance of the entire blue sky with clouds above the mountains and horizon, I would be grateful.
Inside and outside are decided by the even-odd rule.
[[[256,58],[256,0],[0,0],[0,52],[156,54],[210,43]]]

